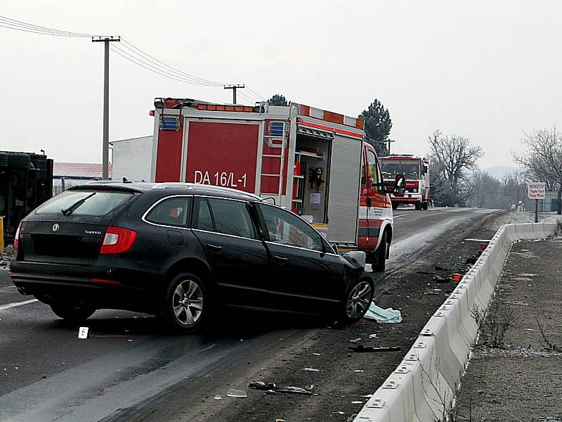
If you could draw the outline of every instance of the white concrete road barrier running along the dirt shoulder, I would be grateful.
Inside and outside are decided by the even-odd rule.
[[[353,422],[445,421],[478,335],[471,309],[488,307],[512,243],[556,229],[556,223],[502,226]]]

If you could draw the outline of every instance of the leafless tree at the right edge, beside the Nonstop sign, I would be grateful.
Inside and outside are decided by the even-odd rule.
[[[541,129],[524,133],[524,152],[513,153],[514,161],[535,181],[544,181],[547,188],[558,191],[558,215],[562,214],[562,136],[556,130]]]

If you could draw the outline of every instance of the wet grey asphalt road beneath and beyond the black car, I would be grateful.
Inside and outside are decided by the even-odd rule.
[[[490,212],[396,210],[387,271],[414,260],[455,226]],[[151,316],[104,310],[86,323],[91,337],[80,340],[78,326],[19,295],[8,271],[0,270],[0,421],[137,420],[148,407],[164,404],[177,385],[193,392],[209,389],[209,383],[224,385],[209,374],[227,371],[235,357],[288,345],[311,324],[229,314],[212,334],[181,336],[162,332]]]

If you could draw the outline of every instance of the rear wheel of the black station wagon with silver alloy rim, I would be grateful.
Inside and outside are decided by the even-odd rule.
[[[158,316],[174,331],[195,333],[210,319],[210,308],[208,289],[202,279],[183,272],[167,286]]]

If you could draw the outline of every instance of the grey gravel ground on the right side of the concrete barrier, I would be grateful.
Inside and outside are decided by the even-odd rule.
[[[457,421],[562,421],[562,238],[515,243],[497,288],[504,347],[473,349]]]

